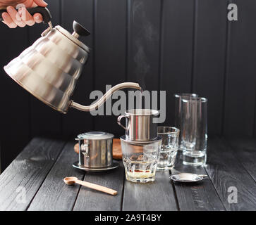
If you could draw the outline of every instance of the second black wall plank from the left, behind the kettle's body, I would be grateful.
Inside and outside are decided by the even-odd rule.
[[[47,8],[51,11],[52,24],[59,25],[60,23],[60,1],[50,0],[47,1],[49,4]],[[41,37],[42,32],[47,29],[48,25],[40,24],[29,27],[29,42],[30,45],[35,40]],[[34,96],[31,99],[31,135],[55,135],[61,134],[61,113],[50,108],[39,101]]]

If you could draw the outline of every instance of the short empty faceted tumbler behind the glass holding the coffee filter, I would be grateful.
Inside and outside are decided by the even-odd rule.
[[[174,167],[179,133],[180,130],[176,127],[157,127],[157,135],[162,139],[157,170],[164,171]]]

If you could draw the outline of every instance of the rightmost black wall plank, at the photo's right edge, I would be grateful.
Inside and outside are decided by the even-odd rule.
[[[224,135],[252,136],[255,117],[256,1],[232,1],[238,20],[231,21],[226,74]]]

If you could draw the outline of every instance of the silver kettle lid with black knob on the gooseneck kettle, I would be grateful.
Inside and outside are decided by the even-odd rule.
[[[78,37],[88,36],[88,35],[90,35],[90,32],[88,30],[86,30],[85,27],[83,27],[82,25],[77,23],[75,20],[73,22],[73,30],[74,30],[73,34],[71,34],[70,32],[68,32],[67,30],[65,30],[63,27],[61,27],[59,25],[57,25],[55,28],[56,28],[56,30],[61,32],[61,34],[63,34],[68,39],[73,41],[75,44],[80,46],[80,48],[84,49],[88,53],[90,52],[90,49],[85,44],[83,44],[83,42],[78,40]]]

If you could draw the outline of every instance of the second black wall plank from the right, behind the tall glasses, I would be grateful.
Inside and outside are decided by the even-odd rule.
[[[195,1],[193,93],[208,98],[210,134],[221,134],[226,50],[226,7],[222,0]]]

